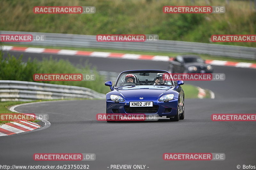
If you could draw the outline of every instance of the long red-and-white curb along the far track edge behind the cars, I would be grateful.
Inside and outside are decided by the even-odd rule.
[[[77,55],[77,56],[91,56],[102,58],[120,58],[131,60],[152,60],[152,61],[172,61],[173,58],[165,55],[140,55],[140,54],[124,54],[124,53],[110,53],[110,52],[98,52],[98,51],[79,51],[79,50],[67,50],[67,49],[52,49],[52,48],[34,48],[34,47],[15,47],[15,46],[2,46],[3,51],[22,51],[26,53],[48,53],[57,55]],[[219,65],[219,66],[232,66],[241,68],[254,68],[256,69],[256,63],[244,63],[244,62],[231,62],[222,60],[206,60],[207,64]]]

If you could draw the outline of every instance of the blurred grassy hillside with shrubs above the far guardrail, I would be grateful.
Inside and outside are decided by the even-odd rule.
[[[159,39],[207,42],[212,34],[256,34],[249,1],[1,0],[0,30],[70,34],[158,34]],[[165,14],[165,5],[225,6],[223,14]],[[34,14],[33,6],[95,6],[95,14]],[[253,42],[218,44],[256,47]]]

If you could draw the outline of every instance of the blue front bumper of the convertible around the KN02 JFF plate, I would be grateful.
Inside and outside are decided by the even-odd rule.
[[[131,100],[141,101],[141,100]],[[146,100],[145,100],[146,101]],[[150,101],[150,100],[147,100]],[[152,101],[152,100],[151,100]],[[107,100],[107,113],[118,114],[145,114],[145,115],[159,115],[174,116],[177,114],[178,99],[174,98],[168,102],[153,101],[153,107],[129,107],[130,101],[115,102]]]

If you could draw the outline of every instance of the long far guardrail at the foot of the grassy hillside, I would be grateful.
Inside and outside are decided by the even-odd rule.
[[[78,35],[62,33],[0,31],[0,34],[32,34],[45,36],[44,41],[15,42],[15,44],[198,53],[256,60],[256,48],[253,47],[169,40],[146,42],[97,42],[95,35]]]

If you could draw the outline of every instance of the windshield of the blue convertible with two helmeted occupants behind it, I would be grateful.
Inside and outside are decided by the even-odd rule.
[[[123,73],[117,80],[116,86],[126,85],[173,85],[167,72],[131,71]],[[159,81],[158,81],[159,80]],[[156,83],[157,82],[157,83]]]

